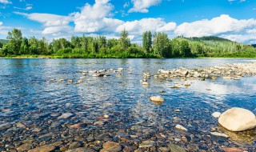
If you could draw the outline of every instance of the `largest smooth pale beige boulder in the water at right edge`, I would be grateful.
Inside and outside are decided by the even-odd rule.
[[[256,126],[256,117],[250,110],[231,108],[221,114],[218,123],[230,131],[244,131]]]

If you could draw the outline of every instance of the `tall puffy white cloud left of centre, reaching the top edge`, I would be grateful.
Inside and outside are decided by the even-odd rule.
[[[75,32],[110,32],[123,22],[110,18],[111,10],[114,6],[109,0],[95,0],[94,5],[86,3],[81,12],[71,14],[74,18]]]

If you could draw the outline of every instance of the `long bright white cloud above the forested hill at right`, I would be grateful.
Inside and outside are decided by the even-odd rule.
[[[256,20],[238,20],[222,14],[211,20],[204,19],[196,22],[184,22],[175,30],[175,34],[185,37],[202,37],[226,33],[242,33],[256,26]]]

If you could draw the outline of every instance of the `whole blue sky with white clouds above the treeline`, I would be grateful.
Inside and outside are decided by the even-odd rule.
[[[256,1],[0,0],[0,38],[13,28],[49,40],[82,34],[118,38],[125,28],[132,42],[150,30],[170,38],[214,35],[250,44],[256,43]]]

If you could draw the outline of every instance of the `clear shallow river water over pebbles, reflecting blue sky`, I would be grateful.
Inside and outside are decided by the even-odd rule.
[[[62,141],[65,146],[69,142],[79,141],[84,146],[89,144],[94,150],[100,150],[101,143],[88,140],[88,136],[93,135],[95,141],[111,140],[120,142],[123,147],[138,148],[139,143],[147,139],[154,140],[157,149],[151,151],[165,147],[168,143],[175,143],[190,151],[219,151],[222,146],[238,146],[242,150],[254,151],[256,130],[230,133],[218,126],[218,119],[211,114],[234,106],[251,110],[255,114],[255,76],[243,77],[240,81],[220,78],[204,82],[194,80],[190,87],[178,90],[168,86],[173,86],[179,80],[162,82],[150,78],[150,86],[140,84],[143,73],[157,74],[162,68],[201,68],[238,62],[256,60],[0,59],[0,125],[6,122],[11,124],[9,129],[0,130],[0,148],[7,151],[16,149],[30,139],[34,147],[57,141]],[[126,69],[123,75],[110,74],[108,78],[94,78],[89,74],[82,78],[84,83],[79,85],[57,82],[60,78],[76,82],[81,79],[83,70],[118,67]],[[50,82],[50,78],[55,81]],[[159,91],[165,93],[160,94]],[[161,95],[165,102],[160,106],[154,105],[149,100],[153,95]],[[174,110],[182,112],[175,113]],[[74,117],[58,119],[50,115],[63,113],[72,113]],[[104,114],[110,116],[104,120],[105,125],[94,126],[93,123],[101,121]],[[174,117],[179,119],[174,120]],[[87,126],[82,130],[68,128],[79,122]],[[177,124],[185,126],[189,131],[174,130]],[[229,134],[230,138],[211,136],[211,130]],[[104,138],[96,138],[102,134]],[[136,138],[130,137],[135,134]],[[161,137],[159,134],[162,134]],[[186,137],[188,142],[173,140],[182,137]],[[127,138],[133,143],[123,142],[121,138]]]

